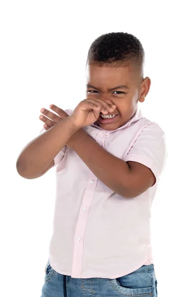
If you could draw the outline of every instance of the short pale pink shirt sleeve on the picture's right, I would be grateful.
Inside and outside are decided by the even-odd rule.
[[[150,168],[158,182],[167,160],[165,134],[156,123],[146,125],[130,148],[125,162],[135,161]]]

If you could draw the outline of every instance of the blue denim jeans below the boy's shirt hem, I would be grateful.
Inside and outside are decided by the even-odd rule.
[[[41,297],[157,297],[154,265],[116,279],[71,278],[56,272],[47,261],[45,283]]]

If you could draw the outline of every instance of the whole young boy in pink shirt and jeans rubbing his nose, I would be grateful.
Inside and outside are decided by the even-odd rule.
[[[74,110],[51,104],[56,114],[41,109],[44,129],[18,157],[27,179],[57,165],[42,297],[157,296],[150,207],[167,151],[164,132],[138,105],[150,88],[143,64],[135,36],[98,37],[87,58],[87,99]]]

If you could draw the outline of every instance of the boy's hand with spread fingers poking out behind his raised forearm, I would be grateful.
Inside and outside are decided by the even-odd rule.
[[[57,107],[54,104],[50,104],[49,105],[50,109],[53,110],[54,112],[56,112],[58,115],[56,115],[55,113],[42,108],[41,109],[41,113],[43,113],[43,115],[40,115],[40,120],[42,122],[44,122],[44,128],[46,130],[50,129],[52,126],[58,124],[61,120],[63,120],[65,117],[68,117],[69,115],[61,108]],[[80,131],[80,130],[79,130]],[[75,141],[77,141],[77,137],[79,136],[80,132],[77,131],[68,141],[68,143],[66,144],[67,147],[69,148],[73,148],[73,144]]]

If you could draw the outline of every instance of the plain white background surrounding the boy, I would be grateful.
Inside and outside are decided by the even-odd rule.
[[[55,168],[27,180],[20,151],[36,138],[42,107],[74,108],[85,99],[85,64],[101,34],[135,35],[151,79],[143,115],[165,131],[168,159],[152,205],[158,295],[186,292],[186,13],[185,1],[0,2],[0,295],[40,297],[55,199]]]

